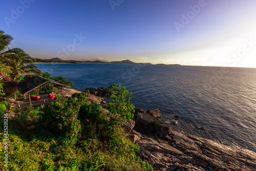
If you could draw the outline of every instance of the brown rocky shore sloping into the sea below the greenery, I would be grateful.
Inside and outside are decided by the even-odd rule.
[[[95,93],[98,92],[95,90],[97,88],[90,92],[103,95]],[[66,96],[80,92],[74,89],[65,91]],[[93,94],[88,100],[103,106],[105,104],[103,97]],[[106,109],[104,111],[108,112]],[[140,146],[140,158],[148,161],[154,170],[256,170],[256,153],[172,131],[170,123],[161,120],[161,113],[157,109],[146,112],[136,110],[135,118],[125,123],[125,130],[129,138]]]

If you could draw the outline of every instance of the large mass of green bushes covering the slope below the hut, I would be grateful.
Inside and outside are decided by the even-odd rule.
[[[9,163],[6,168],[0,162],[0,170],[153,170],[136,156],[139,146],[122,127],[86,98],[75,93],[45,108],[14,110],[18,114],[8,123]],[[0,142],[4,146],[1,133]]]

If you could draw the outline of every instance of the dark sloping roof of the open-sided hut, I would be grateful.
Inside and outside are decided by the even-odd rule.
[[[35,90],[36,88],[38,88],[39,86],[42,86],[42,84],[45,84],[47,82],[52,82],[55,84],[59,84],[60,86],[69,87],[65,84],[59,83],[57,81],[54,81],[48,78],[44,78],[41,76],[34,76],[32,78],[27,79],[24,82],[20,82],[18,84],[17,89],[19,90],[20,93],[26,94],[31,92],[32,90]]]

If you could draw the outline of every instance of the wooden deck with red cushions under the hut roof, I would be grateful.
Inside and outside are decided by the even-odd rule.
[[[57,96],[57,94],[54,94],[54,95],[55,95],[55,97]],[[52,100],[52,99],[48,98],[48,94],[43,94],[43,95],[39,95],[39,96],[40,96],[40,99],[38,99],[38,100],[31,99],[31,103],[29,101],[29,98],[26,98],[24,101],[17,104],[17,107],[28,108],[28,106],[30,106],[30,104],[32,106],[37,106],[37,105],[49,103],[49,101]]]

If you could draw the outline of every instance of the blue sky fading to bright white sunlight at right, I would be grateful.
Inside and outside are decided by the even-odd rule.
[[[4,0],[0,30],[31,57],[256,68],[254,0]]]

